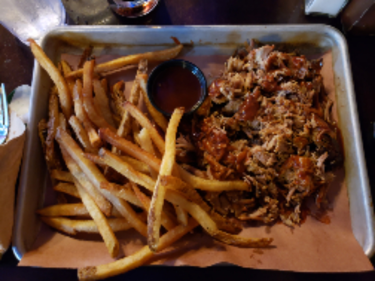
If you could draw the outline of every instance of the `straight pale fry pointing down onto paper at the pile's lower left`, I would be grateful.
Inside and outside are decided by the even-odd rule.
[[[68,155],[64,156],[69,157]],[[104,240],[104,244],[107,247],[108,252],[110,253],[111,257],[117,257],[118,251],[120,250],[120,244],[118,244],[117,238],[115,237],[107,218],[100,211],[94,200],[84,190],[80,183],[75,180],[74,184],[77,187],[83,204],[86,206],[87,211],[89,211],[90,216],[93,218],[96,226],[98,227],[98,231]]]

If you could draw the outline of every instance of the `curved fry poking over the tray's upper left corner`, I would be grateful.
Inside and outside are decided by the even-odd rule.
[[[40,46],[33,39],[28,39],[28,42],[30,43],[31,52],[33,53],[34,57],[55,83],[58,89],[58,98],[60,100],[62,111],[65,118],[69,119],[69,117],[72,115],[72,97],[69,94],[69,88],[64,77],[43,52],[42,48],[40,48]]]

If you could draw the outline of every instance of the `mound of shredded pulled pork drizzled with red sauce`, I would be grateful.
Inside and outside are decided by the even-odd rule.
[[[217,212],[265,223],[299,224],[307,197],[324,202],[342,164],[322,60],[275,51],[236,52],[209,87],[205,110],[179,149],[194,146],[206,178],[243,179],[252,190],[204,193]],[[190,141],[193,146],[187,143]],[[181,151],[182,153],[182,151]]]

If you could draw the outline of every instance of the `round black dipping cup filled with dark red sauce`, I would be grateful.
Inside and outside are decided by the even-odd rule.
[[[207,82],[202,71],[185,60],[169,60],[155,67],[147,81],[147,95],[152,105],[164,115],[183,106],[192,114],[207,96]]]

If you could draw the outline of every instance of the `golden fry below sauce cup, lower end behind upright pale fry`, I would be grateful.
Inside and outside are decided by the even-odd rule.
[[[152,123],[148,118],[144,115],[142,111],[140,111],[135,105],[133,105],[130,102],[124,103],[124,109],[132,115],[132,117],[138,121],[138,123],[148,130],[148,133],[150,133],[152,141],[155,143],[155,146],[160,151],[160,153],[163,155],[165,151],[165,143],[162,137],[159,135],[157,130],[154,126],[152,126]]]

